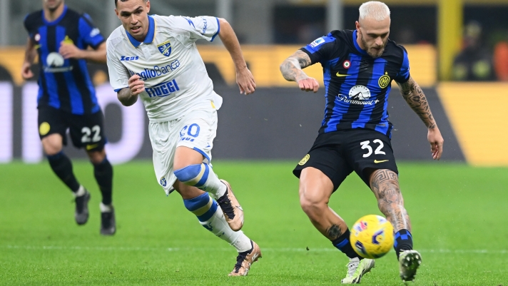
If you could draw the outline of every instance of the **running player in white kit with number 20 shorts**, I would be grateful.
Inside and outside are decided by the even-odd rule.
[[[210,160],[222,98],[213,91],[195,41],[223,41],[236,66],[240,93],[255,82],[230,24],[210,16],[148,16],[148,0],[115,0],[122,22],[106,42],[111,86],[124,106],[138,98],[148,113],[153,166],[166,194],[176,190],[201,225],[238,250],[230,276],[247,275],[261,257],[241,230],[243,209]]]

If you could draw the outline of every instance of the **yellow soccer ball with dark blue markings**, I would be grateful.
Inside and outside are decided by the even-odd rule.
[[[393,225],[380,215],[365,215],[352,227],[350,243],[358,255],[375,259],[393,247]]]

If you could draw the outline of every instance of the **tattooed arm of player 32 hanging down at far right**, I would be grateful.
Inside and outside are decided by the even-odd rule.
[[[440,160],[443,150],[444,140],[441,136],[440,129],[437,128],[436,121],[432,112],[430,112],[429,103],[418,83],[412,77],[405,83],[397,83],[405,101],[412,108],[425,126],[428,128],[427,140],[430,143],[430,152],[434,160]]]

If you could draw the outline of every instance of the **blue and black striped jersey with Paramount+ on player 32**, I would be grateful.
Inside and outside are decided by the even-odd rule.
[[[405,83],[410,63],[404,47],[387,41],[372,58],[358,46],[356,31],[332,31],[301,48],[321,63],[325,81],[325,118],[320,133],[366,128],[391,137],[388,96],[392,80]]]

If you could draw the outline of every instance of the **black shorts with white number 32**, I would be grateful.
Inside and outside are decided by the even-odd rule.
[[[353,170],[369,188],[369,173],[365,173],[365,169],[388,169],[399,173],[390,138],[380,132],[360,128],[320,133],[293,174],[300,178],[300,173],[307,167],[327,175],[332,180],[334,191]]]

